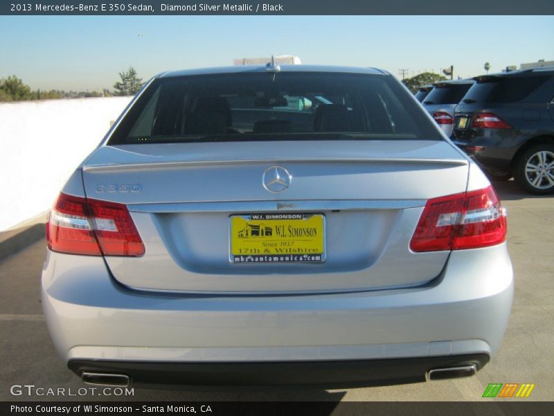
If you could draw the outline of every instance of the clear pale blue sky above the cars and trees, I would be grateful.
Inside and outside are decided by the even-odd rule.
[[[476,76],[486,61],[554,60],[554,16],[0,16],[0,78],[33,88],[111,89],[129,66],[146,80],[272,53]]]

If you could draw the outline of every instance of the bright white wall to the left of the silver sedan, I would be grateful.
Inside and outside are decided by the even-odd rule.
[[[52,206],[130,100],[0,103],[0,232]]]

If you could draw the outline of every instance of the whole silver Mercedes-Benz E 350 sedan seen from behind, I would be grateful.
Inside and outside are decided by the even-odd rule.
[[[53,343],[100,385],[468,376],[512,304],[497,194],[379,69],[161,73],[47,241]]]

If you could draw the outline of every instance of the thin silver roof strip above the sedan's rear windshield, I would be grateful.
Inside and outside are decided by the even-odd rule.
[[[219,75],[225,73],[263,73],[265,65],[236,65],[234,67],[214,67],[198,69],[182,69],[159,73],[154,78],[169,78],[190,75]],[[280,65],[279,72],[321,72],[321,73],[365,73],[370,75],[390,75],[387,71],[377,68],[334,67],[328,65]]]

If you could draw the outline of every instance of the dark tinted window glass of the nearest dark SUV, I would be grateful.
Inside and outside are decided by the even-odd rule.
[[[471,87],[464,103],[515,103],[535,92],[551,79],[549,76],[492,76]]]

